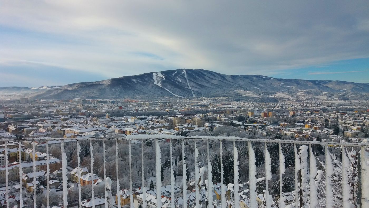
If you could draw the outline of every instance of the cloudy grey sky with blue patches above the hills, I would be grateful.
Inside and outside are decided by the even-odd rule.
[[[170,69],[369,82],[369,1],[2,1],[0,87]]]

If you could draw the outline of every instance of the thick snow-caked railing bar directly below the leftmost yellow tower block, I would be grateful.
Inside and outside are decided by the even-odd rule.
[[[249,146],[249,190],[250,190],[250,208],[258,207],[256,204],[256,159],[255,151],[252,148],[251,141],[248,142]]]

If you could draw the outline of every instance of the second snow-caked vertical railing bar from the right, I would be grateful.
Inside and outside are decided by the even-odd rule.
[[[348,182],[348,171],[347,168],[350,167],[349,160],[346,155],[345,147],[342,146],[342,205],[343,207],[353,208],[354,204],[350,201],[350,191],[351,183]]]

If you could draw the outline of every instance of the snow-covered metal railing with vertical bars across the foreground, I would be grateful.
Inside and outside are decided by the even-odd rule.
[[[67,156],[66,156],[66,146],[65,141],[70,139],[34,139],[37,141],[43,140],[46,142],[46,178],[47,178],[47,189],[49,189],[49,175],[51,174],[49,171],[49,141],[52,140],[61,140],[61,160],[62,160],[62,206],[64,207],[82,207],[82,196],[81,196],[81,184],[80,180],[78,180],[77,187],[78,187],[78,201],[72,202],[72,204],[68,204],[68,181],[67,181]],[[219,208],[225,208],[225,207],[235,207],[239,208],[242,204],[242,202],[250,207],[250,208],[256,208],[256,207],[369,207],[369,177],[368,177],[368,152],[367,148],[369,147],[369,144],[367,143],[335,143],[335,142],[319,142],[319,141],[301,141],[301,140],[270,140],[270,139],[245,139],[245,138],[239,138],[239,137],[203,137],[203,136],[193,136],[193,137],[182,137],[182,136],[173,136],[173,135],[132,135],[127,136],[126,138],[94,138],[94,139],[78,139],[77,140],[77,167],[78,170],[80,170],[80,151],[81,141],[89,141],[90,142],[90,162],[91,162],[91,177],[93,178],[93,165],[94,165],[94,153],[93,153],[93,143],[96,141],[102,141],[103,142],[103,176],[104,177],[104,188],[105,188],[105,194],[104,198],[105,200],[105,207],[113,207],[114,203],[116,207],[121,207],[121,198],[119,197],[119,191],[118,191],[118,197],[115,199],[113,195],[115,193],[111,193],[112,184],[110,178],[106,178],[106,146],[105,143],[108,140],[114,140],[115,141],[115,164],[118,164],[118,154],[123,151],[122,149],[118,148],[118,143],[121,141],[127,141],[128,145],[128,170],[118,167],[118,165],[115,165],[115,171],[116,171],[116,180],[117,180],[117,190],[121,190],[121,188],[127,188],[130,190],[130,207],[136,207],[141,206],[143,208],[146,207],[219,207]],[[17,139],[9,139],[6,141],[17,141],[19,142],[19,149],[21,149],[21,140]],[[133,184],[132,181],[132,157],[139,157],[138,155],[132,155],[131,149],[132,144],[131,141],[139,141],[135,142],[137,145],[141,145],[141,168],[142,172],[144,173],[144,149],[145,144],[148,141],[151,141],[153,144],[153,148],[155,149],[155,173],[156,173],[156,199],[155,205],[153,205],[151,202],[145,199],[146,194],[142,194],[142,201],[139,203],[140,205],[135,204],[134,202],[134,195],[132,188],[138,188],[134,187],[136,184]],[[174,170],[173,170],[173,142],[176,142],[176,144],[180,144],[180,149],[182,150],[180,154],[182,159],[182,176],[183,181],[182,183],[177,183],[174,178]],[[166,200],[162,200],[162,180],[161,180],[161,170],[162,170],[162,142],[169,142],[169,157],[170,157],[170,195],[169,199],[171,200],[170,203],[167,203]],[[189,167],[189,163],[191,161],[186,160],[186,151],[188,151],[187,148],[192,148],[186,146],[186,143],[193,143],[193,151],[194,152],[194,164],[199,163],[199,149],[198,144],[199,143],[206,144],[205,150],[205,158],[203,167],[199,168],[199,165],[196,165],[194,168],[194,177],[192,180],[188,181],[187,183],[185,175],[187,174],[187,168]],[[213,170],[213,167],[210,161],[210,151],[209,151],[209,143],[212,142],[219,144],[219,155],[220,155],[220,200],[214,200],[213,193],[215,189],[215,183],[213,181],[213,175],[212,171],[207,171],[207,174],[204,174],[206,170]],[[232,152],[233,152],[233,183],[230,184],[224,184],[224,174],[225,171],[231,171],[231,170],[224,170],[224,164],[223,164],[223,150],[225,143],[228,143],[228,146],[233,146]],[[239,150],[237,149],[237,144],[242,143],[242,145],[247,145],[247,157],[248,157],[248,181],[247,183],[243,183],[239,180],[239,173],[240,168],[238,166],[239,164]],[[271,160],[271,150],[268,149],[267,144],[273,143],[278,145],[277,154],[279,155],[279,196],[273,196],[271,194],[271,188],[270,187],[270,181],[272,180],[272,167],[271,164],[273,161]],[[294,158],[294,183],[295,188],[294,191],[292,191],[292,194],[286,195],[286,193],[283,192],[283,176],[286,174],[286,168],[285,168],[285,162],[287,162],[285,155],[282,151],[282,144],[290,144],[293,145],[293,158]],[[264,177],[257,178],[257,175],[260,173],[257,173],[257,170],[260,171],[260,167],[256,167],[256,156],[254,147],[263,147],[263,163],[265,164],[264,168]],[[315,153],[313,151],[314,146],[320,146],[323,147],[325,150],[325,161],[321,161],[321,157],[316,157]],[[339,149],[341,156],[341,161],[338,160],[337,156],[335,154],[330,153],[329,148]],[[32,146],[33,149],[33,157],[35,158],[35,143],[33,143]],[[187,150],[186,150],[187,149]],[[355,173],[355,170],[353,169],[355,158],[351,158],[354,155],[348,154],[349,150],[358,150],[359,154],[356,154],[358,158],[356,160],[358,161],[358,174]],[[10,165],[8,164],[8,152],[7,152],[7,142],[5,142],[5,177],[6,177],[6,187],[5,187],[5,204],[6,207],[9,207],[10,201],[14,201],[13,198],[19,199],[19,205],[20,207],[25,206],[25,202],[23,200],[24,197],[24,191],[20,188],[18,193],[13,193],[13,195],[16,195],[17,197],[11,197],[10,194],[10,181],[9,181],[9,171]],[[273,151],[273,150],[272,150]],[[275,150],[274,150],[275,151]],[[328,154],[327,154],[328,153]],[[273,154],[276,154],[273,152]],[[337,178],[337,167],[341,168],[342,178]],[[21,157],[19,158],[19,180],[18,183],[22,184],[22,167],[21,167],[22,161]],[[194,165],[190,164],[190,165]],[[137,164],[136,164],[137,165]],[[323,167],[323,170],[318,170],[318,166]],[[320,168],[322,169],[322,168]],[[33,165],[33,171],[36,172],[35,163]],[[120,172],[128,172],[128,180],[129,180],[129,186],[128,187],[120,187],[120,180],[123,180],[124,178],[119,178]],[[80,178],[80,171],[78,171],[78,178]],[[144,174],[141,174],[142,176],[142,184],[145,184],[145,178]],[[206,180],[205,180],[206,178]],[[324,184],[323,182],[324,178]],[[125,179],[127,180],[127,179]],[[262,197],[260,194],[258,195],[256,189],[257,189],[257,183],[260,181],[265,181],[265,189],[263,191]],[[356,181],[356,191],[354,191],[353,186],[355,186]],[[246,181],[244,181],[246,182]],[[13,181],[14,183],[14,181]],[[15,182],[16,183],[16,182]],[[36,177],[33,179],[33,183],[36,184]],[[338,190],[337,187],[335,187],[335,184],[337,183],[341,184],[341,190]],[[147,183],[146,183],[147,184]],[[175,185],[178,186],[178,184],[182,185],[182,204],[179,203],[180,200],[178,200],[178,197],[175,196]],[[248,188],[247,188],[248,186]],[[203,187],[205,187],[205,192],[202,191]],[[35,190],[35,188],[34,188]],[[92,199],[94,199],[94,185],[91,183],[91,195]],[[193,190],[194,190],[194,196],[193,196]],[[226,191],[228,190],[228,191]],[[147,191],[145,189],[145,186],[142,185],[141,191],[145,193]],[[318,200],[318,194],[325,195],[324,203],[321,204],[321,201]],[[46,206],[49,207],[50,199],[49,199],[49,191],[46,191]],[[292,196],[292,197],[291,197]],[[36,207],[36,194],[35,191],[33,192],[33,205],[27,204],[27,206],[34,206]],[[176,199],[176,200],[175,200]],[[204,199],[204,200],[203,200]],[[116,201],[115,201],[116,200]],[[191,203],[191,201],[193,201]],[[92,207],[96,206],[95,200],[91,200]],[[205,202],[205,203],[204,203]],[[318,204],[320,203],[320,204]]]

